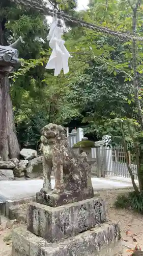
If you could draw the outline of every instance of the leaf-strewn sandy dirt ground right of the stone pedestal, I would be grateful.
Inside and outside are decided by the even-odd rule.
[[[124,190],[125,192],[125,190]],[[143,218],[133,211],[124,209],[115,209],[113,202],[117,196],[123,193],[123,190],[101,191],[100,197],[107,202],[107,218],[110,221],[119,221],[121,226],[121,236],[123,243],[123,256],[128,256],[131,252],[127,252],[128,248],[134,248],[136,244],[143,250]]]

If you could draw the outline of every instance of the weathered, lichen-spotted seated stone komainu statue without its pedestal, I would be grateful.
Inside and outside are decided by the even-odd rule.
[[[52,123],[44,126],[41,150],[43,151],[44,172],[41,192],[51,191],[50,176],[53,170],[55,178],[53,194],[69,191],[77,195],[82,191],[88,198],[93,196],[91,167],[87,162],[87,155],[85,153],[77,155],[69,149],[64,127]]]

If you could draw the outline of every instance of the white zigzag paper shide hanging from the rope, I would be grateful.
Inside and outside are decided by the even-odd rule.
[[[54,76],[58,76],[63,69],[64,74],[69,72],[68,60],[71,55],[64,46],[65,41],[62,39],[63,30],[57,26],[57,20],[53,20],[47,40],[52,49],[46,69],[54,69]]]

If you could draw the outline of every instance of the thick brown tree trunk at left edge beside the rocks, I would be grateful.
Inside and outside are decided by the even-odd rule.
[[[6,161],[19,158],[20,148],[13,122],[10,82],[8,77],[0,79],[0,156]]]

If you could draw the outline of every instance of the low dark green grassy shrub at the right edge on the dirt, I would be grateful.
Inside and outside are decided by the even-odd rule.
[[[143,214],[143,192],[135,193],[135,191],[130,192],[126,195],[119,195],[116,202],[116,208],[130,208]]]

